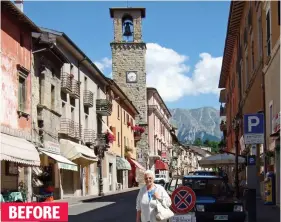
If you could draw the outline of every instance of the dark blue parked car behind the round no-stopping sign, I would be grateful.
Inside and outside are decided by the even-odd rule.
[[[189,186],[196,195],[196,203],[190,213],[196,216],[196,222],[228,221],[244,222],[246,214],[243,203],[234,197],[230,186],[219,176],[187,175],[176,176],[166,186],[172,195],[179,186]],[[176,213],[175,213],[176,215]],[[170,221],[185,221],[170,219]]]

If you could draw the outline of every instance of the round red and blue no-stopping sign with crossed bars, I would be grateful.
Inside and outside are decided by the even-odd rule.
[[[185,214],[192,210],[196,203],[196,195],[190,187],[178,187],[172,193],[172,209],[175,213]]]

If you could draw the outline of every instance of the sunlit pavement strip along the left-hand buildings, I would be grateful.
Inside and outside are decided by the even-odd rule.
[[[116,191],[105,193],[103,197],[118,195],[121,193],[127,193],[127,192],[131,192],[131,191],[139,190],[139,189],[140,189],[139,187],[133,187],[133,188],[127,188],[127,189],[123,189],[123,190],[116,190]],[[102,197],[98,196],[98,195],[88,195],[88,196],[82,196],[82,197],[69,197],[69,198],[60,199],[60,200],[54,200],[54,202],[67,202],[68,205],[71,206],[71,205],[75,205],[75,204],[83,202],[83,201],[91,201],[91,200],[99,199],[99,198],[102,198]]]

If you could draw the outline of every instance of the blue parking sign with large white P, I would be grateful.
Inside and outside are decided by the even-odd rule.
[[[263,113],[244,115],[245,144],[264,143],[264,115]]]

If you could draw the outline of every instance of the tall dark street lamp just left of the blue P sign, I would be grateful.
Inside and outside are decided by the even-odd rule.
[[[239,198],[238,143],[239,143],[240,118],[238,115],[236,115],[236,117],[232,121],[232,128],[235,132],[235,191],[236,191],[236,197]]]

